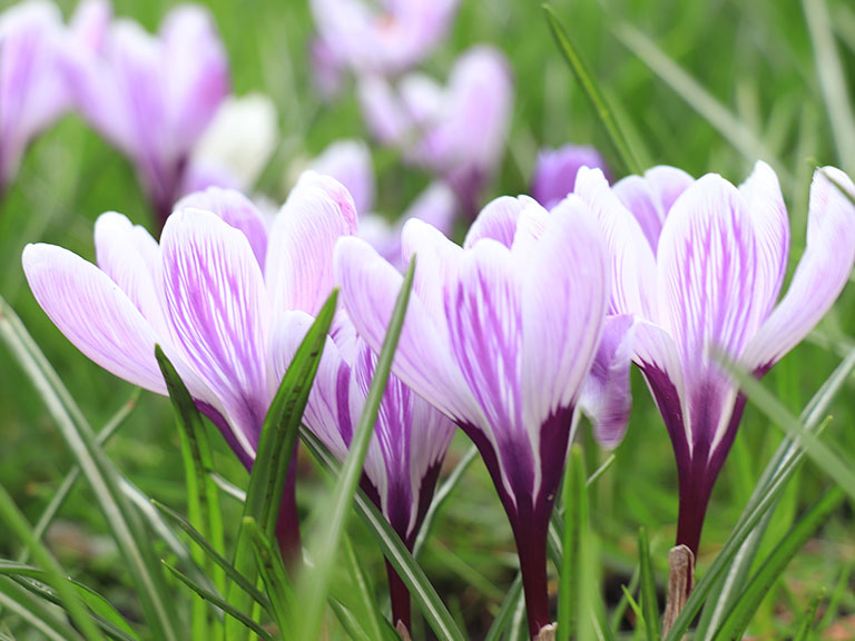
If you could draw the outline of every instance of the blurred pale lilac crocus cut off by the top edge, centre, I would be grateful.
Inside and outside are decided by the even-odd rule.
[[[334,70],[394,76],[424,59],[445,37],[459,0],[312,0],[318,39],[313,59],[322,87]]]

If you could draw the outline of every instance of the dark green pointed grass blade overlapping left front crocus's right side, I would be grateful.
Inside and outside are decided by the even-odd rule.
[[[337,297],[338,292],[334,290],[318,312],[283,376],[264,420],[258,452],[249,474],[243,517],[252,517],[268,539],[275,538],[276,517],[285,477],[296,447],[297,432],[321,363],[330,325],[335,315]],[[255,581],[257,576],[255,553],[248,534],[243,530],[243,521],[237,538],[234,565],[240,574]],[[247,599],[239,586],[229,585],[229,603],[246,609]],[[239,639],[242,632],[233,622],[226,622],[227,639]]]

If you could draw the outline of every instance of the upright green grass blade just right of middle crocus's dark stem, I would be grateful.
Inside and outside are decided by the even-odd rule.
[[[582,530],[583,510],[587,501],[584,463],[578,445],[570,450],[564,469],[563,489],[564,522],[561,533],[561,550],[558,582],[558,640],[568,641],[576,627],[577,602],[582,593],[578,582],[579,545]]]

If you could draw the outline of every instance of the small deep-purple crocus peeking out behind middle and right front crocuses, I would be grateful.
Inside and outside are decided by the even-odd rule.
[[[558,149],[541,149],[531,179],[532,198],[543,207],[554,207],[564,196],[573,193],[576,175],[582,167],[609,174],[606,161],[594,147],[564,145]]]

